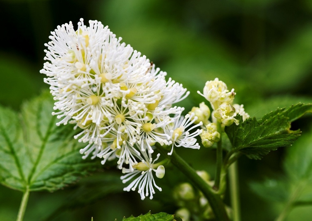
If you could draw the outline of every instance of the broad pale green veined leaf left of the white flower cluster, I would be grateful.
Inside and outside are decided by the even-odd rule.
[[[21,113],[0,107],[0,183],[25,191],[54,191],[96,168],[81,158],[84,144],[72,125],[56,126],[53,99],[45,93],[22,105]]]

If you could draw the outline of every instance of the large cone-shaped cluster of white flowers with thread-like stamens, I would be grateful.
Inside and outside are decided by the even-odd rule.
[[[98,21],[87,27],[80,19],[77,30],[66,23],[49,38],[48,62],[40,72],[56,101],[52,114],[61,119],[57,125],[74,123],[83,129],[75,136],[87,143],[80,150],[83,158],[100,157],[102,164],[117,158],[118,168],[128,173],[123,182],[140,172],[125,190],[138,186],[142,199],[152,198],[153,186],[161,190],[152,172],[158,178],[164,174],[163,166],[155,168],[159,155],[152,160],[154,145],[199,148],[195,136],[201,131],[190,130],[202,123],[189,127],[197,117],[183,118],[183,108],[173,106],[189,92],[171,78],[166,81],[165,72]]]

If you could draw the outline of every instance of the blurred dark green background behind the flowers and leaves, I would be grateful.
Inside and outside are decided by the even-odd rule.
[[[156,67],[191,91],[180,103],[189,111],[204,101],[207,80],[235,88],[236,103],[252,117],[277,107],[312,102],[312,1],[310,0],[0,0],[0,103],[18,110],[37,96],[43,83],[44,43],[57,25],[80,18],[99,20],[145,54]],[[77,27],[77,26],[76,26]],[[293,127],[308,132],[311,117]],[[180,150],[196,169],[214,173],[215,152]],[[243,220],[273,220],[281,204],[258,197],[250,182],[283,176],[285,149],[261,161],[239,160]],[[64,190],[32,193],[25,220],[120,220],[123,216],[174,213],[174,185],[187,181],[166,168],[163,192],[151,201],[123,193],[120,171],[103,168]],[[178,174],[178,175],[175,175]],[[0,187],[0,220],[15,220],[22,193]],[[165,198],[165,200],[161,199]],[[226,202],[229,203],[228,196]],[[289,220],[309,220],[312,207],[295,209]],[[300,215],[300,216],[299,216]],[[300,219],[298,219],[300,217]],[[296,219],[297,218],[297,219]]]

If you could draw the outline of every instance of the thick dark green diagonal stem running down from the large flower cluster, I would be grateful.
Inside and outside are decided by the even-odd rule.
[[[168,156],[168,152],[162,147],[157,147],[158,150],[164,155],[170,158],[171,163],[176,166],[184,175],[186,175],[191,182],[197,187],[205,197],[208,199],[210,206],[219,221],[229,220],[227,212],[225,210],[225,205],[220,198],[220,196],[213,191],[211,186],[208,185],[200,176],[197,175],[196,171],[188,165],[176,152],[173,150],[171,156]]]

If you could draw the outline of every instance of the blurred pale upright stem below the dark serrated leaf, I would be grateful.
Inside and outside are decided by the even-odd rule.
[[[231,204],[233,209],[233,221],[240,221],[240,201],[239,201],[239,186],[238,186],[238,168],[237,161],[229,167],[229,184],[231,194]]]

